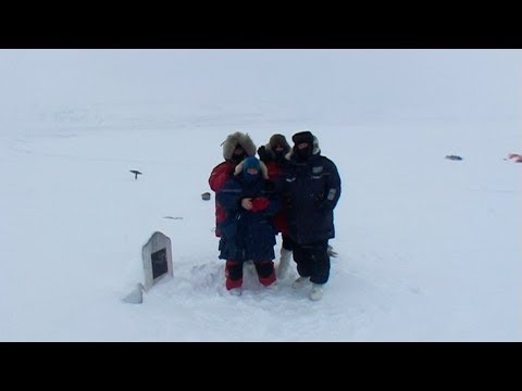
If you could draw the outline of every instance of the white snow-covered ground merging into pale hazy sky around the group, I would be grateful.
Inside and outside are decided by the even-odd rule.
[[[521,341],[521,60],[0,50],[0,340]],[[200,197],[220,144],[302,129],[343,180],[324,299],[294,266],[231,297]],[[154,231],[174,277],[124,303]]]

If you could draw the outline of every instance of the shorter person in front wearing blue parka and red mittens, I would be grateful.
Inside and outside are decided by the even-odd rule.
[[[272,217],[281,209],[279,197],[268,180],[266,167],[256,157],[236,166],[234,176],[216,194],[226,213],[220,224],[220,258],[226,260],[226,289],[241,293],[243,265],[253,261],[259,281],[275,287],[274,245],[276,231]]]

